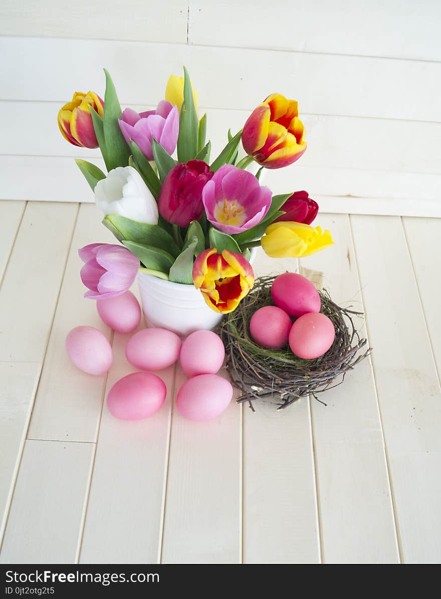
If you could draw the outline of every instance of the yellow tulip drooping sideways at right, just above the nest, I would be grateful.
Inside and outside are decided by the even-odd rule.
[[[262,248],[271,258],[303,258],[333,245],[329,231],[321,227],[291,221],[268,226],[261,240]]]

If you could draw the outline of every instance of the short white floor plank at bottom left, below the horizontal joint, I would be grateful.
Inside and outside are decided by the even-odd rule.
[[[1,563],[75,561],[92,453],[92,443],[26,441]]]

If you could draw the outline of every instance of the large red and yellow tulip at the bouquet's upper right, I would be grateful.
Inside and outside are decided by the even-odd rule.
[[[242,132],[247,154],[265,168],[282,168],[306,150],[305,130],[295,100],[271,93],[249,116]]]

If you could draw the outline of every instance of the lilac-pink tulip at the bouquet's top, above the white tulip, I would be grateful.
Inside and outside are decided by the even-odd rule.
[[[179,111],[170,102],[162,100],[156,110],[140,114],[132,108],[126,108],[118,122],[126,142],[130,145],[130,140],[133,140],[148,160],[153,160],[153,137],[169,154],[176,149]]]

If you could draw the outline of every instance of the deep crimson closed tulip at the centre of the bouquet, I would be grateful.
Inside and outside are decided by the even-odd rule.
[[[161,216],[179,226],[188,226],[192,220],[199,220],[204,212],[202,190],[213,174],[202,160],[191,160],[173,167],[159,192]]]

